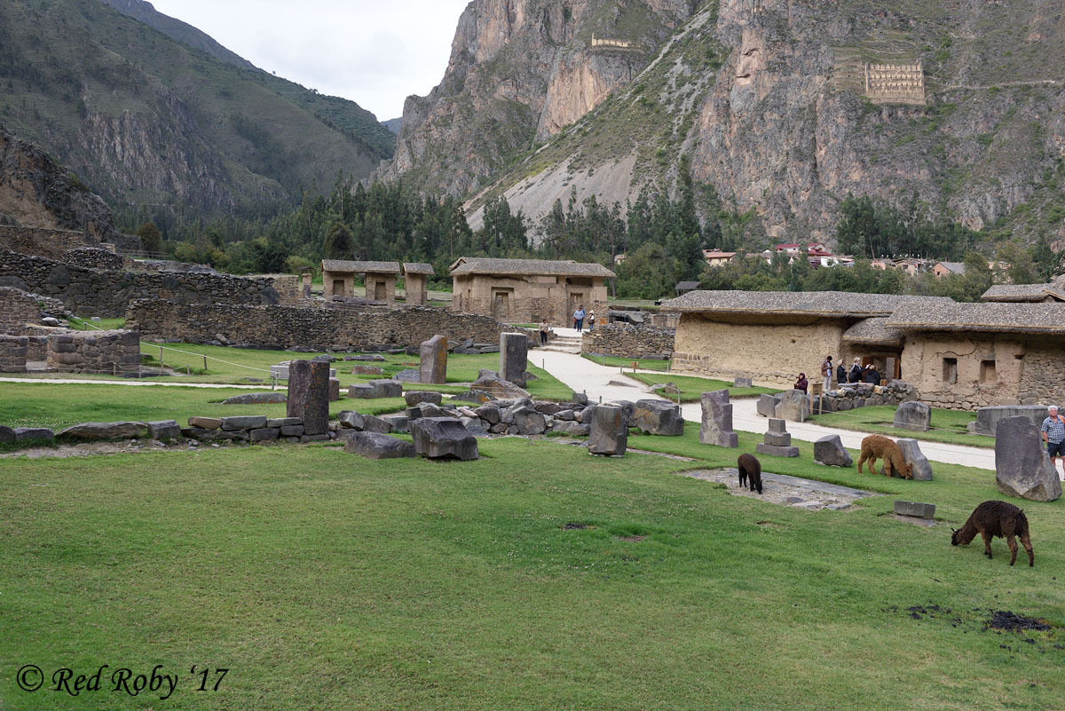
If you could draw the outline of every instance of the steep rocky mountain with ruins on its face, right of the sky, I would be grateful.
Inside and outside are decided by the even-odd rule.
[[[646,60],[632,78],[559,81],[574,62],[599,76],[593,24]],[[923,98],[881,101],[867,65],[919,65]],[[407,101],[389,175],[472,195],[474,225],[494,195],[539,217],[571,192],[624,203],[675,187],[685,165],[772,238],[831,241],[854,194],[1065,246],[1063,70],[1065,16],[1035,0],[475,0],[444,80]],[[555,120],[542,110],[560,104]]]

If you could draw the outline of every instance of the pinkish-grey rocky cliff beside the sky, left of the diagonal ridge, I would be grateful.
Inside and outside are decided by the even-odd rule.
[[[691,0],[474,0],[378,177],[464,194],[628,84]]]

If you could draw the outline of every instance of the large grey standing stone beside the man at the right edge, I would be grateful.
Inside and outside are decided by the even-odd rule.
[[[1062,482],[1047,457],[1039,428],[1025,416],[1005,417],[995,428],[995,482],[1009,496],[1053,501]]]

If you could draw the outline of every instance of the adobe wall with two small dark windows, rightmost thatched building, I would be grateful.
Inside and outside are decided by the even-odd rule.
[[[954,383],[946,379],[945,359],[957,361]],[[990,333],[913,333],[902,351],[902,368],[920,399],[933,407],[1065,403],[1065,351],[1060,342]]]

